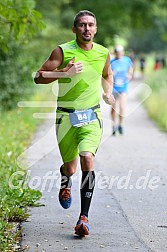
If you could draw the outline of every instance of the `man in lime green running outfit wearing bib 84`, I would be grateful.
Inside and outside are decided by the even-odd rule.
[[[104,101],[112,105],[112,71],[109,51],[93,42],[96,17],[84,10],[74,18],[76,39],[55,48],[38,70],[35,83],[58,79],[56,135],[63,160],[60,168],[59,202],[68,209],[72,203],[72,175],[80,160],[81,211],[75,226],[79,236],[89,234],[88,212],[95,186],[94,156],[102,134],[100,113],[101,84]]]

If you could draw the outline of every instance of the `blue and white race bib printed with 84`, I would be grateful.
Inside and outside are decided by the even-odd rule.
[[[70,122],[74,127],[81,127],[97,120],[93,109],[76,110],[70,113]]]

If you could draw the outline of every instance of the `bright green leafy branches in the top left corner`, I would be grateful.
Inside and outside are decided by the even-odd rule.
[[[8,52],[11,38],[27,42],[44,28],[34,0],[0,0],[0,48]]]

